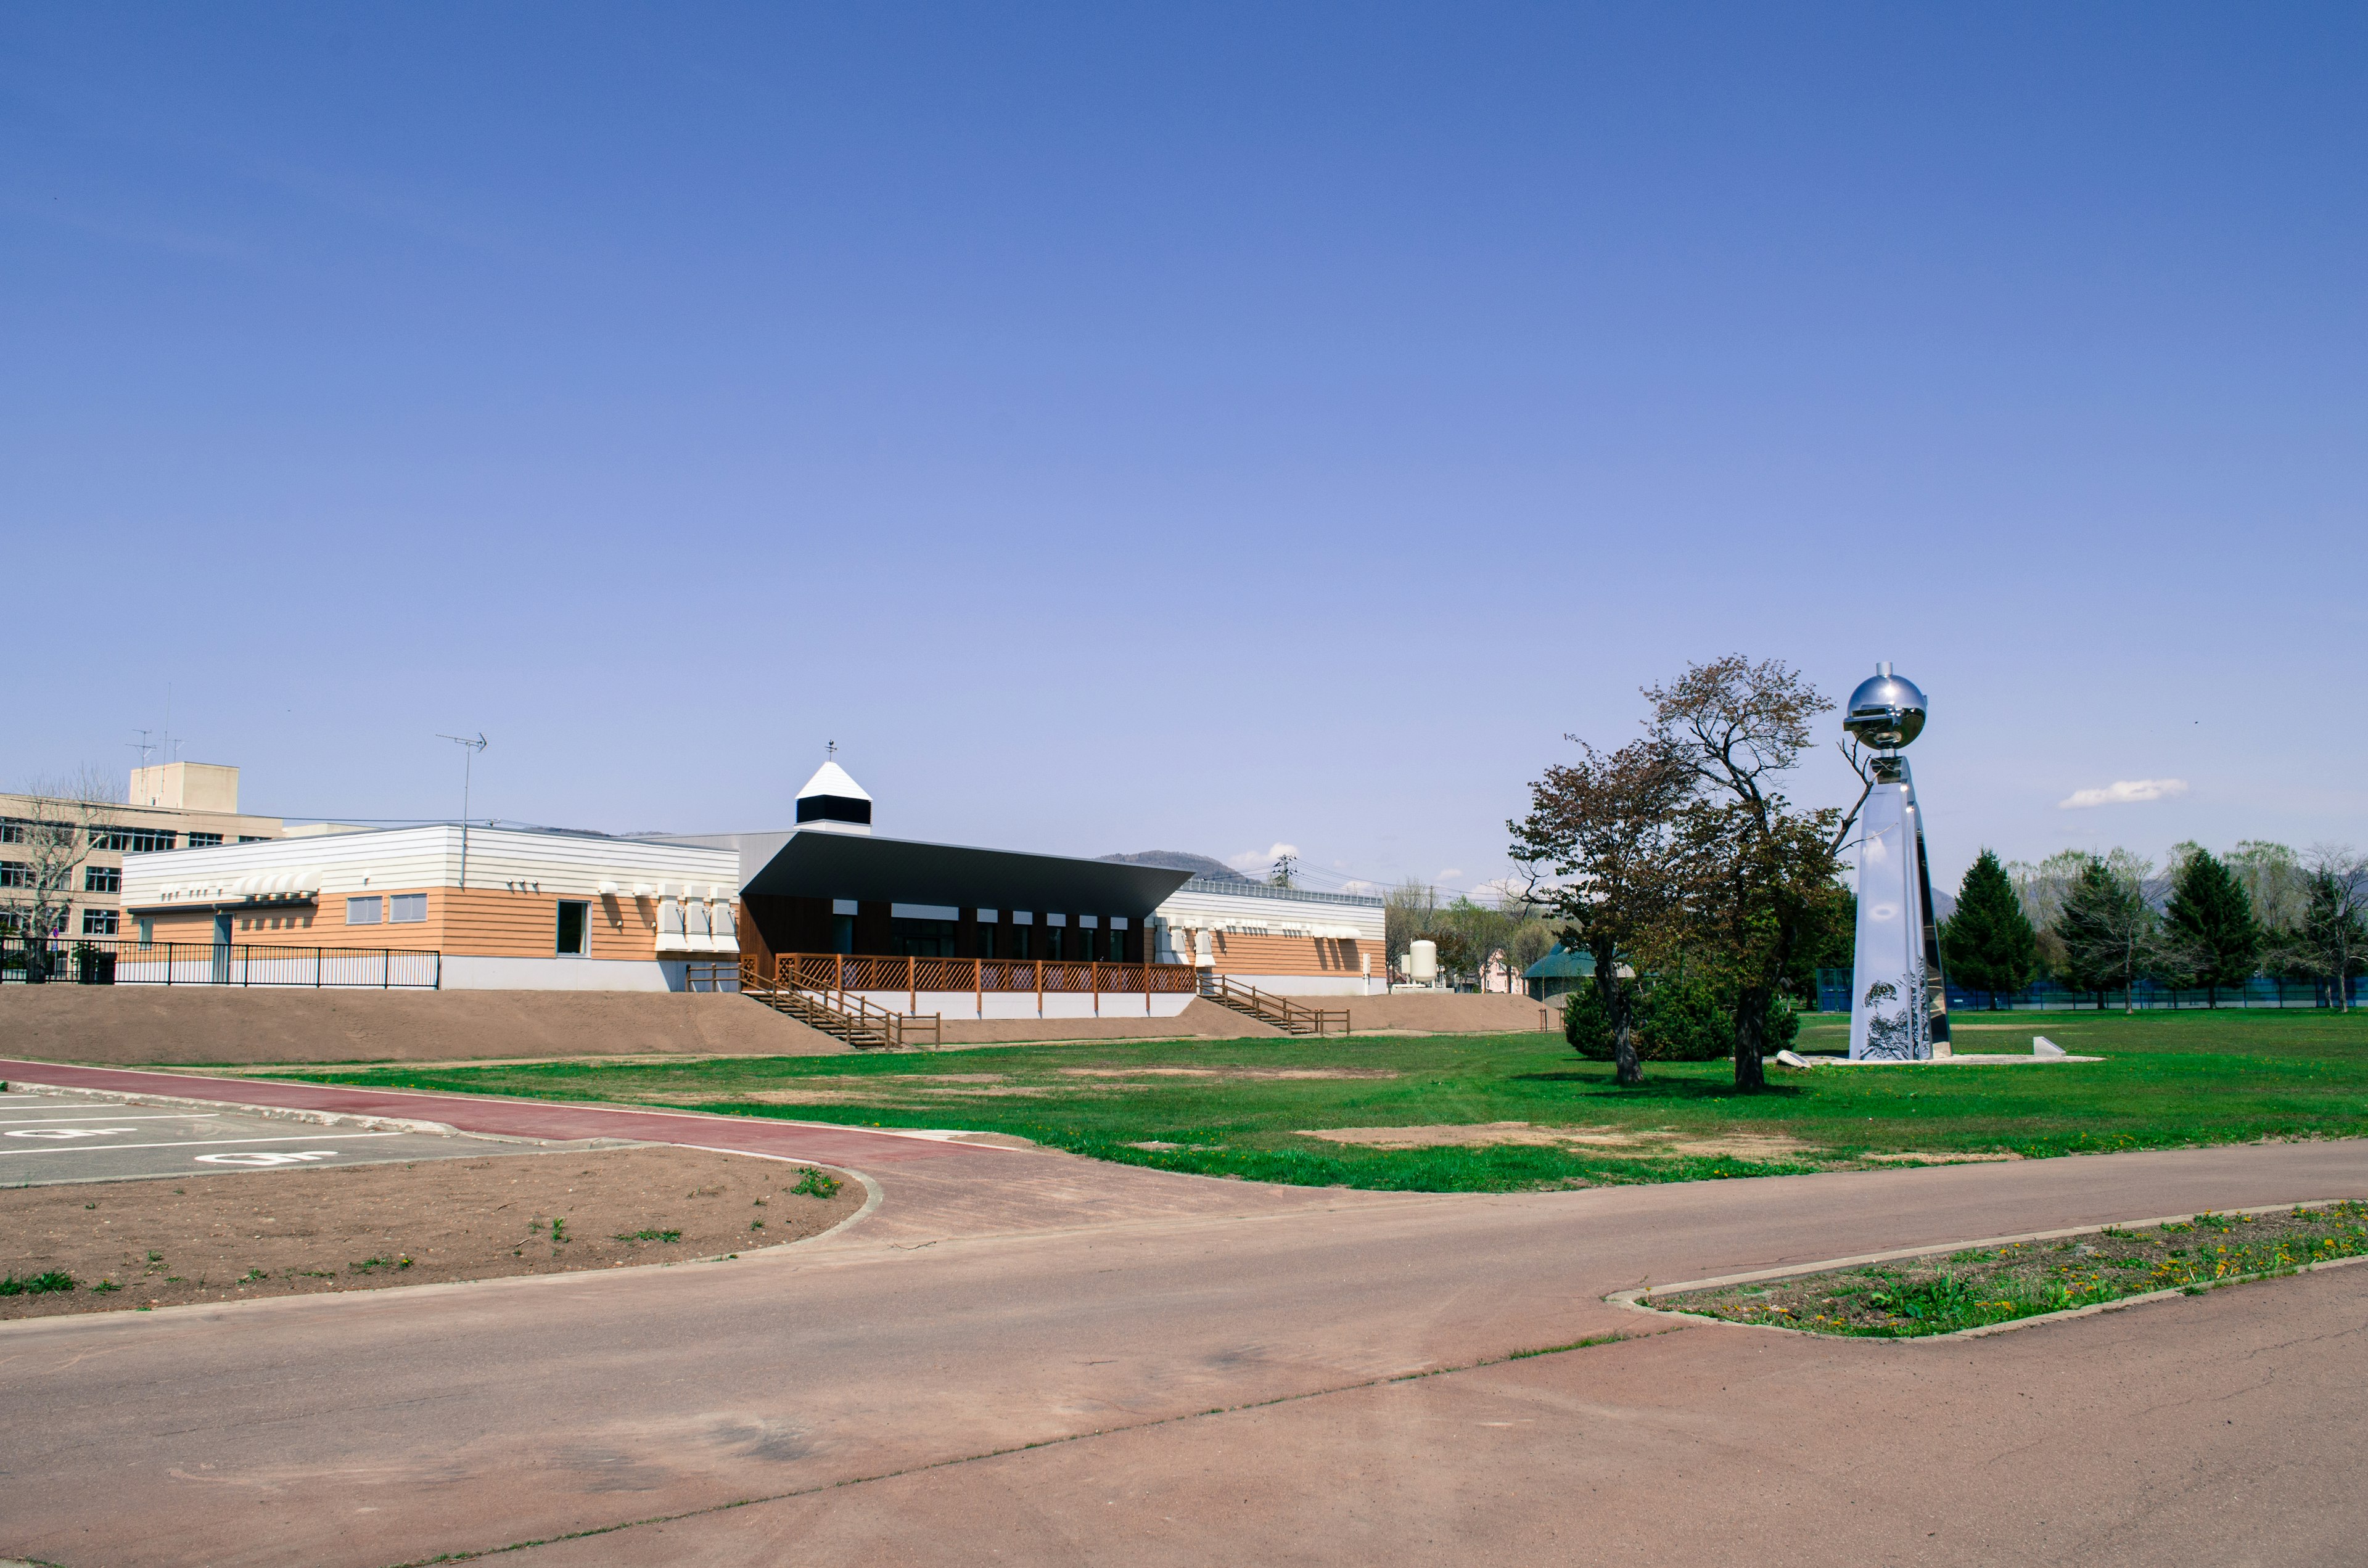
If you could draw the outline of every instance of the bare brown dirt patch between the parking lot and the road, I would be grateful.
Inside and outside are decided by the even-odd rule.
[[[800,1175],[644,1146],[17,1187],[0,1191],[0,1319],[713,1258],[864,1201],[845,1172],[824,1172],[829,1199],[793,1191]],[[71,1291],[24,1289],[59,1272]]]

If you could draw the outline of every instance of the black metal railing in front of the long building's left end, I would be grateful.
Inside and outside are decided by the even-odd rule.
[[[417,947],[263,947],[104,936],[0,938],[0,985],[310,985],[436,990],[443,955]]]

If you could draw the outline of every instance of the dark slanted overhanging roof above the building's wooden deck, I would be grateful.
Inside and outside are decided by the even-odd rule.
[[[760,869],[744,874],[741,895],[758,898],[855,898],[1127,919],[1144,919],[1191,876],[1170,867],[817,831],[791,834]]]

